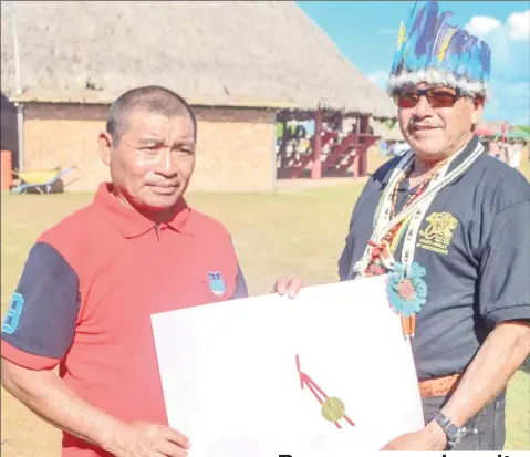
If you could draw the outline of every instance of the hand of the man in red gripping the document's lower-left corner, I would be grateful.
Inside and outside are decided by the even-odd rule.
[[[189,440],[164,425],[136,422],[119,425],[104,447],[116,457],[186,457]]]

